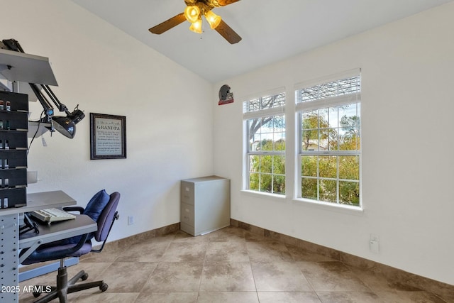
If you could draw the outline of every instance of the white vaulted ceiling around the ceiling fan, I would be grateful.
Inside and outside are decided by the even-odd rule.
[[[229,44],[204,22],[148,28],[182,13],[184,0],[72,0],[209,82],[219,82],[453,0],[240,0],[213,9],[243,38]]]

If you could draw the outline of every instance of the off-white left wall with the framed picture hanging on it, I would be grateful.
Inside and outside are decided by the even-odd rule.
[[[211,84],[70,1],[0,6],[0,38],[49,57],[53,91],[86,114],[74,139],[47,133],[47,147],[33,142],[28,169],[40,182],[28,192],[62,189],[82,206],[99,189],[120,192],[110,240],[179,222],[179,180],[213,171]],[[42,107],[31,111],[38,119]],[[91,112],[126,116],[127,159],[89,160]]]

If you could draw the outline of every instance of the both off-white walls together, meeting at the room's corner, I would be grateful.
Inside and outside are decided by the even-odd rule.
[[[70,1],[0,4],[8,8],[0,38],[49,57],[57,97],[87,114],[73,140],[55,133],[44,136],[47,147],[33,143],[28,167],[40,182],[28,192],[62,189],[82,206],[101,188],[121,192],[116,240],[178,222],[179,180],[214,171],[231,178],[233,219],[454,284],[453,3],[214,86]],[[284,86],[291,112],[295,83],[355,67],[364,212],[293,201],[291,143],[287,198],[240,192],[242,97]],[[236,101],[213,109],[224,83]],[[37,118],[40,105],[31,111]],[[126,160],[89,160],[90,112],[127,117]],[[287,138],[292,123],[289,116]],[[380,237],[378,254],[368,248],[370,233]]]

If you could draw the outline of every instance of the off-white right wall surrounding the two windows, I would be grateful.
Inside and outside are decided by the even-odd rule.
[[[454,285],[454,3],[216,84],[235,102],[214,109],[214,171],[231,178],[231,217]],[[304,39],[304,37],[301,37]],[[242,102],[286,87],[295,136],[294,84],[362,69],[362,213],[242,189]],[[370,252],[374,233],[380,253]]]

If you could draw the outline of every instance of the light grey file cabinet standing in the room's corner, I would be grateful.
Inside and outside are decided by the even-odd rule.
[[[230,226],[230,180],[209,176],[181,182],[182,231],[199,236]]]

